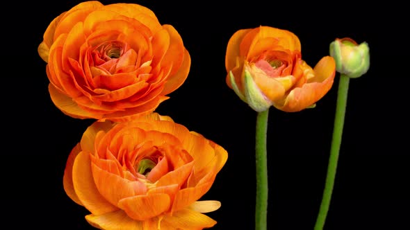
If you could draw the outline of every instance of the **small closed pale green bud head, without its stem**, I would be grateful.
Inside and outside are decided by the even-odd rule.
[[[357,44],[345,37],[331,42],[329,53],[336,62],[336,71],[349,78],[359,78],[370,67],[369,46],[366,42]]]

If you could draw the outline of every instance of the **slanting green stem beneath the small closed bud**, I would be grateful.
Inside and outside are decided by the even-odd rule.
[[[320,204],[319,214],[315,224],[315,230],[323,229],[323,227],[325,226],[327,212],[329,211],[331,193],[333,191],[334,179],[336,177],[339,150],[341,148],[342,142],[343,124],[345,122],[349,80],[349,77],[341,74],[341,78],[339,79],[338,97],[336,101],[336,114],[334,118],[329,163],[327,166],[325,190],[323,191],[322,204]]]

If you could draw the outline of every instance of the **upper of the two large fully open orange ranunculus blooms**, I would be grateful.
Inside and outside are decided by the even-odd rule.
[[[38,53],[56,107],[101,121],[153,112],[190,69],[177,30],[133,3],[79,3],[51,21]]]

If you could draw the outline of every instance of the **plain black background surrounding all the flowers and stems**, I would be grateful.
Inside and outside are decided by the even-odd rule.
[[[92,229],[63,191],[69,151],[92,120],[65,116],[49,98],[37,47],[48,24],[80,1],[10,2],[3,11],[3,218],[12,229]],[[120,1],[101,1],[117,3]],[[241,28],[292,31],[312,67],[336,37],[370,46],[370,70],[350,81],[334,194],[325,229],[410,229],[409,49],[404,8],[392,1],[122,1],[172,24],[190,52],[188,79],[157,112],[222,145],[229,159],[203,200],[220,200],[213,229],[253,229],[256,112],[225,84],[224,55]],[[332,6],[333,4],[334,6]],[[6,49],[6,51],[4,50]],[[407,60],[407,61],[406,61]],[[6,70],[6,71],[4,71]],[[325,182],[338,75],[315,109],[270,109],[268,229],[313,229]],[[6,204],[6,206],[4,206]]]

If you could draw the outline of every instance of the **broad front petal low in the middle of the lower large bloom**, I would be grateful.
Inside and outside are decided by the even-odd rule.
[[[134,220],[148,220],[170,209],[170,196],[165,193],[152,193],[127,197],[120,200],[118,206]]]

